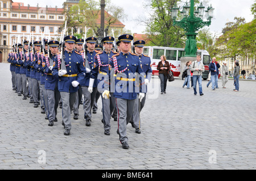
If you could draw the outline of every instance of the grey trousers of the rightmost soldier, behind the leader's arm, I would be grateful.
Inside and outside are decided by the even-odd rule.
[[[134,110],[133,110],[133,117],[130,120],[131,123],[134,123],[134,127],[135,129],[141,129],[141,117],[139,116],[139,113],[141,112],[142,108],[144,107],[146,102],[146,94],[143,97],[143,99],[141,100],[141,102],[139,102],[139,94],[137,95],[135,104],[134,104]],[[141,105],[139,105],[141,104]]]

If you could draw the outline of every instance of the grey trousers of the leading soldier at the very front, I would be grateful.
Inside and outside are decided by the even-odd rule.
[[[121,143],[128,141],[128,137],[126,136],[126,125],[133,116],[135,101],[136,99],[127,100],[115,98],[115,104],[117,105],[119,140]]]

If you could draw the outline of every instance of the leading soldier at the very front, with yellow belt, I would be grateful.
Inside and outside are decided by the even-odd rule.
[[[129,149],[128,137],[126,136],[126,125],[133,116],[134,104],[139,90],[135,87],[135,81],[139,77],[144,83],[144,73],[141,62],[137,54],[130,53],[131,41],[133,36],[121,35],[120,40],[121,52],[112,57],[110,68],[113,68],[115,85],[114,97],[118,112],[118,130],[119,140],[123,149]],[[135,77],[135,78],[134,78]],[[143,98],[145,90],[139,93],[139,99]]]

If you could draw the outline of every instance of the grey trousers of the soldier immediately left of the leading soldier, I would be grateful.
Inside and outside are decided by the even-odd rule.
[[[111,119],[111,112],[114,111],[115,108],[115,98],[113,93],[110,93],[110,98],[105,99],[102,97],[102,115],[103,115],[103,123],[104,123],[104,130],[110,130],[110,119]]]

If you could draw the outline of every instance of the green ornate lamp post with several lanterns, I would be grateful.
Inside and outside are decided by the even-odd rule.
[[[197,7],[197,10],[194,11],[194,0],[191,0],[190,6],[187,2],[185,6],[183,6],[183,10],[180,11],[181,16],[184,17],[181,20],[176,20],[179,7],[175,5],[171,9],[171,15],[174,19],[174,26],[179,26],[186,32],[185,35],[187,36],[187,40],[185,42],[185,57],[196,57],[196,32],[204,26],[210,26],[214,9],[210,6],[207,8],[207,10],[205,10],[207,21],[204,22],[204,8],[205,7],[201,3],[200,6]]]

